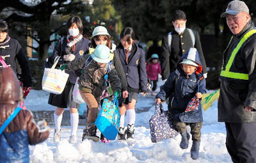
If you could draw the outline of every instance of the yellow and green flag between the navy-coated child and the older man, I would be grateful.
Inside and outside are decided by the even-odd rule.
[[[204,111],[207,111],[213,102],[220,97],[220,89],[214,91],[213,93],[204,93],[201,101],[201,105]]]

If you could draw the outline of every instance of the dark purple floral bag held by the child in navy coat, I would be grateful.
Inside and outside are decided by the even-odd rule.
[[[150,136],[153,143],[178,135],[172,124],[172,116],[162,108],[162,104],[156,104],[155,113],[149,120]]]

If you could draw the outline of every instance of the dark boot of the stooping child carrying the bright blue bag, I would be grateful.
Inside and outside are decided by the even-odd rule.
[[[83,130],[83,137],[82,141],[84,139],[92,139],[93,141],[99,141],[99,136],[96,135],[97,127],[94,123],[87,123],[86,128]]]

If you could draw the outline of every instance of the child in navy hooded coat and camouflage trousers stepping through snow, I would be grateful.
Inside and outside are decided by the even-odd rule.
[[[169,75],[167,81],[161,86],[160,92],[156,95],[156,102],[160,104],[161,101],[166,100],[173,93],[168,109],[173,117],[173,125],[182,137],[180,148],[188,148],[190,136],[186,130],[186,125],[189,125],[193,140],[190,152],[191,158],[194,160],[199,157],[201,128],[203,124],[200,101],[197,109],[188,112],[185,112],[185,110],[191,98],[196,97],[200,99],[202,98],[202,93],[206,93],[202,69],[198,51],[195,48],[190,48],[180,58],[177,69]]]

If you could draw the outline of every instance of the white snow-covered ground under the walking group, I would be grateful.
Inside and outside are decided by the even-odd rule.
[[[162,84],[159,81],[159,86]],[[159,89],[158,89],[159,90]],[[45,91],[32,90],[26,99],[26,105],[32,111],[52,111],[54,107],[47,104],[49,93]],[[202,128],[202,140],[200,144],[200,156],[198,160],[190,158],[192,141],[189,141],[189,148],[182,150],[179,147],[180,135],[174,139],[166,139],[159,143],[152,143],[150,140],[150,129],[148,120],[154,114],[154,99],[140,97],[137,107],[151,105],[148,112],[136,114],[136,127],[134,144],[128,145],[125,142],[111,141],[109,144],[94,143],[93,141],[81,142],[83,126],[77,130],[77,143],[69,144],[70,127],[62,127],[61,141],[54,144],[52,136],[54,127],[51,126],[49,139],[36,146],[29,146],[30,162],[232,162],[225,146],[225,125],[217,121],[217,103],[203,112],[204,127]],[[167,109],[167,105],[164,104]]]

